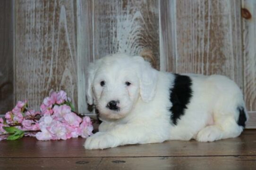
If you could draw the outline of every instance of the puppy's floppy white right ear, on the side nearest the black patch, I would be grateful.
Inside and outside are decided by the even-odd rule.
[[[158,74],[150,63],[146,62],[142,57],[136,56],[135,59],[139,64],[138,77],[140,80],[140,96],[143,101],[149,102],[155,95]]]

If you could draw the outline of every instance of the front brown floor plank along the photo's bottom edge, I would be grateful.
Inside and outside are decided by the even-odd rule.
[[[0,158],[0,169],[7,170],[253,170],[255,167],[256,156]]]

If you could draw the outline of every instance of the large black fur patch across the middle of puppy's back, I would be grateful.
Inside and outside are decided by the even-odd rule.
[[[173,87],[170,89],[170,101],[172,103],[170,112],[172,123],[177,125],[178,119],[184,115],[192,97],[192,80],[186,75],[174,74],[174,76]]]

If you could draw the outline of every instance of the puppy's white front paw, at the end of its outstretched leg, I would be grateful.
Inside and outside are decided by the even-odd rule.
[[[106,132],[97,132],[85,140],[85,149],[105,149],[118,146],[118,140]]]

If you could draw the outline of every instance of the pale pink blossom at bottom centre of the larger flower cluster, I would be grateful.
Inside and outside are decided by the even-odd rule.
[[[66,140],[66,133],[67,133],[67,129],[65,127],[65,125],[63,123],[61,123],[60,121],[54,121],[53,124],[51,124],[49,131],[51,132],[51,134],[56,136],[56,139],[63,139]]]

